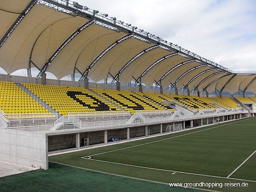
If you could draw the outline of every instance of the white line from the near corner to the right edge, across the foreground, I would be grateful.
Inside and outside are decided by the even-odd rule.
[[[143,167],[143,166],[135,166],[135,165],[129,165],[129,164],[124,164],[124,163],[115,163],[115,162],[96,160],[96,159],[89,159],[89,160],[99,161],[99,162],[103,162],[103,163],[112,163],[112,164],[123,165],[123,166],[137,167],[137,168],[142,168],[142,169],[151,169],[151,170],[164,171],[164,172],[176,172],[176,173],[182,173],[182,174],[187,174],[187,175],[199,175],[199,176],[204,176],[204,177],[215,177],[215,178],[222,178],[222,179],[233,179],[233,180],[249,181],[249,182],[256,183],[255,180],[244,180],[244,179],[220,177],[220,176],[214,176],[214,175],[204,175],[204,174],[189,173],[189,172],[179,172],[179,171],[173,171],[173,170],[157,169],[157,168]]]

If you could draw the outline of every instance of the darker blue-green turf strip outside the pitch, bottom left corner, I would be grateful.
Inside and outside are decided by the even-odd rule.
[[[70,166],[49,163],[48,170],[36,170],[0,178],[1,192],[196,192],[196,189],[171,188]]]

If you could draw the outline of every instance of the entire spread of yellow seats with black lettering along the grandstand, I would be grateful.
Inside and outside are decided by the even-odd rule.
[[[204,98],[103,89],[88,90],[84,87],[26,83],[23,83],[23,86],[62,115],[76,112],[121,111],[122,109],[131,113],[159,110],[174,112],[172,108],[163,103],[164,100],[174,101],[186,106],[186,108],[196,110],[218,108],[212,102],[225,108],[238,107],[236,102],[230,98]],[[8,90],[3,88],[4,91],[0,93],[0,109],[5,113],[20,113],[21,109],[22,113],[32,113],[33,110],[37,113],[49,113],[16,84],[0,82],[0,87],[9,88]],[[251,99],[250,101],[252,102]]]

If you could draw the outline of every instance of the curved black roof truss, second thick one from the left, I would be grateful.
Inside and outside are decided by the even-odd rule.
[[[64,43],[61,44],[61,46],[58,47],[58,49],[52,54],[52,56],[44,64],[44,67],[38,73],[37,77],[40,77],[42,73],[46,72],[46,70],[49,67],[49,65],[51,64],[51,62],[57,57],[57,55],[61,52],[61,50],[64,49],[64,47],[66,47],[66,45],[69,44],[73,38],[76,37],[76,35],[78,35],[80,32],[82,32],[84,29],[86,29],[88,26],[92,25],[95,22],[96,22],[96,20],[90,20],[89,22],[87,22],[83,26],[81,26],[79,29],[77,29],[75,32],[73,32],[73,34],[70,35],[70,37],[67,38],[66,41],[64,41]]]

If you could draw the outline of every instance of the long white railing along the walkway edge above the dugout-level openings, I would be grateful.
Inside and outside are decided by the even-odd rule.
[[[38,125],[38,126],[27,126],[27,127],[13,127],[7,128],[17,131],[29,131],[29,132],[52,132],[52,131],[67,131],[67,130],[77,130],[77,129],[88,129],[88,128],[119,128],[125,127],[127,125],[145,125],[147,123],[154,122],[174,122],[174,121],[184,121],[192,119],[202,119],[208,117],[218,117],[225,115],[233,115],[241,113],[241,111],[235,112],[224,112],[224,113],[215,113],[215,114],[194,114],[194,115],[182,115],[182,116],[155,116],[151,118],[143,119],[130,119],[128,120],[119,120],[119,121],[103,121],[103,122],[85,122],[85,123],[74,123],[73,125]],[[243,111],[243,113],[246,113]]]

